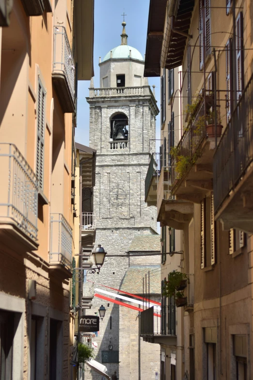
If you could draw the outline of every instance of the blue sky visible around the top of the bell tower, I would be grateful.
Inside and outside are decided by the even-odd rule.
[[[99,87],[99,57],[104,58],[106,53],[120,45],[122,33],[123,12],[127,15],[126,33],[127,44],[136,48],[144,57],[147,37],[149,0],[95,0],[95,28],[94,28],[94,84]],[[155,84],[156,99],[160,108],[160,78],[149,78],[149,85]],[[89,96],[90,81],[78,83],[78,114],[75,140],[89,146]],[[157,116],[157,137],[160,138],[160,116]],[[157,142],[157,147],[159,146]]]

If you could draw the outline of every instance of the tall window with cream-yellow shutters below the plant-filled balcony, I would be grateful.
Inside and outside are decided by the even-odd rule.
[[[201,269],[216,263],[213,194],[201,201]]]

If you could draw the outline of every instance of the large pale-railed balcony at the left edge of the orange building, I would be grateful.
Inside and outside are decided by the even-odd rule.
[[[36,250],[38,183],[13,144],[0,143],[0,240],[13,249]]]

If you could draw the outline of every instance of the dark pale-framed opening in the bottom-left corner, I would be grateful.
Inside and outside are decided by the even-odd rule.
[[[12,379],[14,313],[0,312],[0,379]]]

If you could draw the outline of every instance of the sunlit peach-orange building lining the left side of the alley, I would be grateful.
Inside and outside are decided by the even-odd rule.
[[[0,4],[3,379],[75,379],[74,134],[77,81],[93,75],[93,8],[78,0]]]

